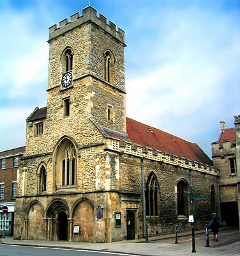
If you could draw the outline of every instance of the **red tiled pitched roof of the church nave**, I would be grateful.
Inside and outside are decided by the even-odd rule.
[[[177,136],[161,131],[146,124],[142,124],[131,118],[126,118],[126,131],[128,138],[121,138],[116,134],[111,134],[120,140],[130,141],[143,147],[160,150],[178,157],[184,157],[199,163],[213,165],[211,159],[196,144],[183,140]],[[110,132],[107,132],[110,135]]]

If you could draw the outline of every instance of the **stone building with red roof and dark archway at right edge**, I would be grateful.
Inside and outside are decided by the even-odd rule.
[[[234,116],[234,127],[226,128],[220,122],[220,137],[212,143],[214,167],[220,170],[221,223],[239,225],[239,182],[240,182],[240,116]]]

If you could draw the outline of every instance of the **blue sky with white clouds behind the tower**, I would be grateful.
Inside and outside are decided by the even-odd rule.
[[[220,121],[240,115],[240,1],[91,0],[125,31],[126,115],[211,157]],[[87,0],[0,1],[0,151],[22,147],[47,106],[49,28]]]

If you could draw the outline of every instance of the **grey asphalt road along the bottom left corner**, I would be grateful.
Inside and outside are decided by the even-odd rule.
[[[128,256],[128,253],[94,252],[91,250],[43,248],[38,246],[17,246],[0,244],[1,256]],[[133,256],[131,254],[131,256]]]

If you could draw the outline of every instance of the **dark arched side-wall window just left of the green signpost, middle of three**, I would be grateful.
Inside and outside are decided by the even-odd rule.
[[[185,180],[177,183],[177,215],[188,216],[188,184]]]

